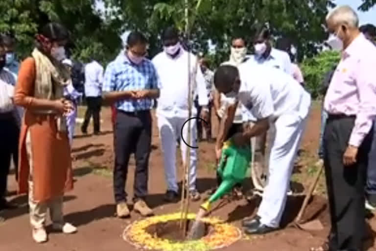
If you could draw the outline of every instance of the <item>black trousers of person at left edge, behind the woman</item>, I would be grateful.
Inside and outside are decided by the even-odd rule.
[[[19,136],[20,129],[14,114],[0,113],[0,209],[5,201],[11,155],[15,154]],[[14,156],[18,159],[18,152]]]

